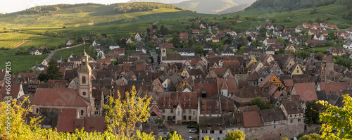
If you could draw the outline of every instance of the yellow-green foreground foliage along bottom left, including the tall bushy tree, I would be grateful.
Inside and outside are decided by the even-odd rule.
[[[42,121],[41,117],[32,117],[30,121],[30,125],[27,125],[25,122],[25,115],[28,113],[32,112],[30,108],[32,106],[29,106],[28,108],[22,108],[23,103],[25,103],[27,98],[25,98],[24,101],[15,101],[11,100],[11,109],[9,110],[9,113],[6,113],[6,109],[8,108],[7,104],[5,102],[0,102],[0,139],[13,139],[13,140],[18,140],[18,139],[139,139],[139,140],[154,140],[155,137],[153,134],[145,134],[137,131],[137,135],[135,136],[130,136],[130,135],[123,135],[123,134],[115,134],[114,132],[111,131],[113,129],[113,126],[122,128],[124,125],[126,132],[132,132],[134,130],[134,125],[135,122],[137,121],[145,121],[146,117],[149,115],[149,99],[146,96],[143,98],[139,98],[141,100],[136,101],[135,100],[135,95],[136,95],[136,90],[133,87],[133,90],[131,93],[126,93],[127,95],[127,101],[120,101],[120,100],[113,100],[113,98],[110,98],[110,104],[108,106],[105,106],[110,113],[109,117],[106,117],[108,121],[110,122],[110,118],[117,118],[120,119],[122,117],[116,116],[116,115],[123,115],[127,113],[135,113],[135,115],[130,115],[131,118],[128,118],[125,120],[125,122],[120,123],[117,120],[113,121],[113,125],[108,125],[109,130],[100,133],[100,132],[84,132],[84,129],[81,129],[78,131],[77,129],[75,130],[75,133],[63,133],[63,132],[57,132],[56,129],[42,129],[39,127],[39,122]],[[119,98],[120,99],[120,98]],[[143,100],[144,99],[144,100]],[[119,103],[115,104],[115,106],[112,106],[111,103]],[[131,108],[126,108],[126,107],[131,107],[135,108],[135,110]],[[128,110],[127,110],[128,109]],[[122,112],[115,112],[115,111],[122,111]],[[139,112],[142,113],[141,116],[137,115]],[[124,116],[125,116],[124,115]],[[11,134],[6,134],[7,128],[6,128],[6,121],[8,118],[11,119]],[[120,120],[122,121],[122,120]],[[174,140],[181,140],[181,136],[179,134],[170,134],[172,139]]]

